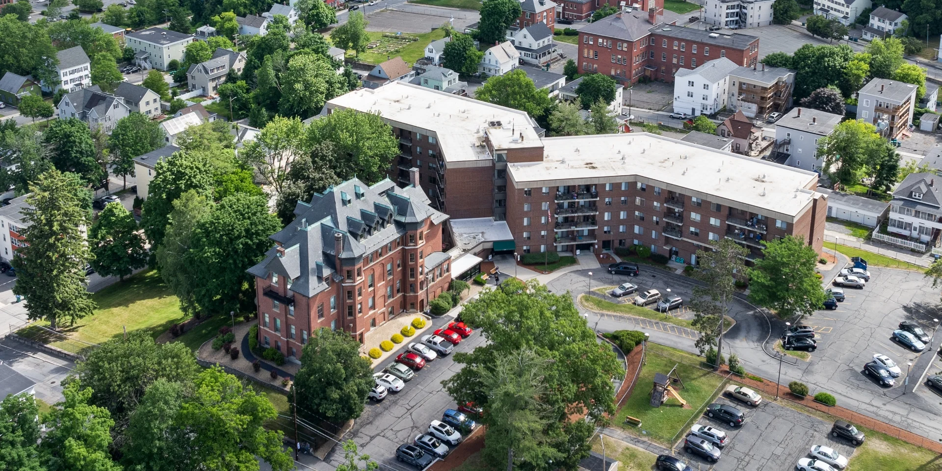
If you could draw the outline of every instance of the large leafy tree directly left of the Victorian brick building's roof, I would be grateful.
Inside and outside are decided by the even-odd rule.
[[[264,197],[245,194],[223,198],[197,222],[189,253],[200,280],[194,300],[203,312],[228,313],[254,305],[254,277],[246,270],[265,257],[271,247],[268,236],[281,228]]]

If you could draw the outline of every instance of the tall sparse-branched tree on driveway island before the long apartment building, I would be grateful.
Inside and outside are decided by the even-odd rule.
[[[694,345],[700,354],[716,346],[719,354],[713,368],[719,369],[726,313],[736,293],[737,273],[746,272],[742,261],[749,251],[730,238],[710,243],[710,249],[697,251],[699,264],[693,270],[693,278],[703,284],[693,287],[694,299],[690,301],[690,308],[693,309],[693,328],[700,333]]]

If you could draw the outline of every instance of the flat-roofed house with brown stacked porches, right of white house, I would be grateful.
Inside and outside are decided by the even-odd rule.
[[[749,118],[765,120],[771,113],[785,114],[791,107],[795,73],[781,67],[738,67],[729,73],[731,110],[742,111]]]

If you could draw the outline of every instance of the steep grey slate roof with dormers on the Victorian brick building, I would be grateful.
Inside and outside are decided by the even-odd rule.
[[[271,272],[289,277],[293,279],[291,291],[313,296],[339,280],[335,255],[355,258],[376,252],[406,234],[407,224],[425,219],[437,224],[448,218],[429,203],[422,188],[399,188],[388,179],[372,187],[356,178],[329,187],[323,194],[315,194],[310,203],[299,202],[294,210],[296,219],[271,235],[284,253],[279,253],[278,246],[272,247],[247,271],[258,277],[268,277]],[[339,254],[335,235],[341,236]],[[426,263],[437,257],[441,255],[429,254]]]

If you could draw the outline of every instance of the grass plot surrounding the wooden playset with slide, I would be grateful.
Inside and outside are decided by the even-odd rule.
[[[678,363],[681,359],[687,363]],[[639,434],[646,430],[648,436],[668,443],[685,425],[691,425],[687,424],[691,417],[703,412],[702,408],[713,399],[717,388],[723,383],[723,377],[694,366],[700,363],[702,358],[658,344],[648,343],[645,360],[631,396],[625,400],[625,405],[612,421],[612,425]],[[651,407],[648,402],[654,387],[654,374],[666,375],[674,365],[677,365],[677,373],[684,382],[683,388],[676,386],[677,392],[690,404],[690,408],[684,408],[675,398],[668,399],[660,407]],[[625,424],[626,416],[640,419],[641,427]]]

